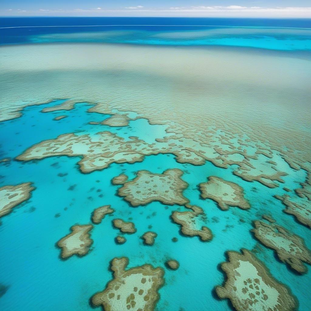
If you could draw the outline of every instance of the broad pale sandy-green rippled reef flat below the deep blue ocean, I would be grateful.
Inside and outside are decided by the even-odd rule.
[[[34,56],[38,55],[37,48],[41,51],[40,62]],[[169,50],[151,46],[146,49],[141,46],[116,48],[113,45],[94,48],[91,44],[82,44],[75,51],[77,54],[69,59],[67,55],[72,55],[71,44],[55,47],[29,45],[22,52],[14,49],[16,48],[4,47],[1,51],[6,59],[3,72],[10,73],[10,79],[7,77],[5,85],[18,81],[24,88],[20,88],[23,93],[10,87],[5,88],[0,120],[19,117],[26,106],[53,102],[54,99],[50,97],[57,94],[59,98],[70,98],[74,103],[91,104],[88,112],[114,114],[111,110],[125,113],[132,111],[147,118],[150,124],[165,124],[168,135],[160,138],[160,144],[153,146],[157,149],[154,152],[172,153],[179,162],[198,165],[208,160],[220,167],[237,165],[234,173],[245,180],[257,180],[268,187],[276,187],[282,182],[281,176],[284,176],[284,170],[287,169],[286,162],[292,168],[309,171],[310,134],[304,129],[309,127],[309,120],[305,116],[310,109],[306,105],[307,113],[301,114],[299,109],[293,108],[301,100],[306,100],[305,94],[309,90],[300,70],[301,62],[304,62],[304,68],[309,68],[306,60],[293,60],[292,74],[288,75],[289,71],[285,66],[287,63],[282,57],[278,56],[272,61],[269,55],[249,55],[250,53],[243,51],[230,51],[228,57],[227,51],[220,50],[194,51],[185,48],[168,53]],[[64,55],[63,59],[51,62],[53,54],[59,50],[63,51],[60,53]],[[17,55],[7,57],[11,53]],[[85,55],[92,53],[98,55],[98,58],[85,58]],[[190,53],[193,55],[191,58]],[[114,56],[103,62],[104,54]],[[119,62],[119,59],[127,59],[128,55],[131,55],[131,61]],[[12,68],[16,68],[16,59],[19,59],[20,67],[24,68],[23,75],[12,71]],[[232,62],[236,64],[234,68],[231,68]],[[277,70],[270,72],[271,76],[267,77],[266,71],[262,69],[272,66],[272,63]],[[58,79],[54,79],[49,84],[51,91],[47,92],[44,84],[46,79],[41,78],[45,77],[45,71],[40,70],[40,75],[35,74],[38,72],[38,64],[49,71],[54,68],[56,77],[61,78],[63,84],[60,85]],[[56,70],[63,65],[69,71]],[[188,70],[194,67],[197,70]],[[131,72],[131,75],[110,76],[107,80],[106,75],[99,74],[102,70]],[[142,72],[150,74],[142,76]],[[94,86],[76,83],[74,79],[87,81],[90,74],[96,77],[93,79]],[[240,74],[238,82],[237,74]],[[296,86],[293,84],[293,76]],[[26,84],[29,81],[37,81],[38,88],[30,89]],[[131,84],[130,92],[128,88],[124,89],[124,81]],[[168,91],[164,87],[168,81],[178,87]],[[256,87],[256,93],[250,85]],[[300,87],[305,91],[297,91]],[[101,88],[103,91],[96,91]],[[193,90],[199,90],[195,96]],[[228,93],[231,94],[230,97],[225,95]],[[16,100],[17,98],[23,100]],[[258,111],[254,103],[262,104],[262,109]],[[283,107],[277,114],[272,109],[274,104]],[[74,104],[63,103],[56,109],[50,107],[48,111],[66,109],[65,105],[68,109],[74,107]],[[177,105],[183,113],[175,113]],[[157,113],[154,113],[155,107]],[[274,120],[277,117],[286,120],[287,126],[276,126]]]

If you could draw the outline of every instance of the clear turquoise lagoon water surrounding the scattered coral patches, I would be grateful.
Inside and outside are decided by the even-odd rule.
[[[14,159],[32,144],[59,134],[94,133],[109,128],[87,124],[109,117],[86,113],[90,107],[87,104],[77,104],[71,111],[40,112],[44,107],[54,104],[57,102],[28,107],[21,118],[2,122],[1,132],[10,135],[2,136],[1,156]],[[53,120],[55,116],[63,114],[68,117]],[[109,131],[125,138],[137,135],[146,139],[144,133],[148,131],[155,133],[154,137],[165,136],[165,126],[149,125],[146,120],[131,121],[129,128],[109,128]],[[152,137],[148,139],[151,141]],[[164,267],[167,258],[179,261],[178,273],[165,269],[165,286],[160,289],[156,310],[193,310],[194,302],[196,310],[200,311],[207,308],[230,310],[227,301],[216,299],[213,292],[215,285],[222,284],[224,280],[219,263],[226,260],[225,251],[228,249],[253,249],[256,246],[257,242],[249,232],[252,220],[258,219],[262,213],[271,213],[280,225],[301,236],[310,236],[309,229],[292,221],[282,212],[284,206],[281,202],[272,198],[276,193],[284,193],[281,187],[269,189],[258,182],[243,181],[232,174],[234,167],[221,169],[210,162],[202,166],[180,164],[173,155],[157,155],[147,156],[141,163],[113,164],[103,171],[81,174],[78,160],[77,157],[61,156],[25,163],[12,160],[0,165],[0,186],[32,181],[36,187],[31,199],[4,217],[0,226],[0,280],[7,286],[7,292],[1,297],[1,309],[4,311],[91,310],[90,297],[104,289],[111,280],[109,261],[120,256],[129,257],[129,267],[146,262]],[[189,238],[179,233],[179,227],[172,223],[169,216],[172,211],[183,210],[183,207],[169,206],[165,209],[158,202],[145,207],[130,207],[115,195],[118,186],[110,182],[123,172],[133,178],[137,170],[149,169],[162,173],[168,168],[179,168],[185,172],[183,179],[189,183],[189,187],[184,195],[191,200],[191,204],[202,207],[207,214],[206,225],[214,234],[211,242],[202,243],[197,237]],[[293,172],[284,178],[284,186],[289,188],[297,188],[306,177],[303,170],[294,174],[294,170],[288,167],[287,171]],[[67,175],[60,177],[59,173]],[[251,209],[242,211],[230,208],[221,211],[215,202],[202,200],[197,184],[211,175],[239,183],[251,203]],[[73,190],[68,190],[73,185]],[[97,192],[99,189],[100,192]],[[66,261],[61,260],[60,250],[55,243],[69,233],[73,224],[89,223],[91,212],[104,204],[111,204],[116,212],[114,217],[106,216],[93,229],[91,252],[82,258],[73,256]],[[57,213],[60,216],[55,218]],[[132,219],[137,227],[137,234],[127,235],[127,242],[123,245],[114,243],[118,230],[112,228],[111,220],[116,217]],[[152,230],[158,234],[153,247],[144,246],[139,239],[148,230],[148,225],[152,225]],[[178,237],[177,243],[171,241],[173,237]],[[310,241],[306,239],[309,248]],[[257,246],[257,249],[258,258],[266,263],[272,274],[290,285],[299,299],[299,310],[308,310],[309,295],[307,290],[302,291],[301,288],[310,284],[311,273],[297,276],[276,260],[272,250],[263,246]]]

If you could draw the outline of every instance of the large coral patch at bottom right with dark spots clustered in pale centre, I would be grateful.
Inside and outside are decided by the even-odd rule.
[[[289,289],[251,252],[242,249],[242,254],[227,253],[229,262],[221,264],[227,280],[224,286],[216,286],[220,299],[230,299],[237,311],[294,311],[298,307]]]

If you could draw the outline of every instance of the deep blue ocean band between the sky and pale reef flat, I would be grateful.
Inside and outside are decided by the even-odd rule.
[[[259,33],[250,33],[250,28],[257,28]],[[232,32],[232,29],[235,31]],[[216,31],[207,35],[207,30]],[[169,34],[176,31],[188,32],[189,36],[170,37]],[[193,31],[196,32],[194,36]],[[202,35],[198,35],[198,31]],[[158,36],[165,33],[168,35]],[[309,50],[311,46],[311,19],[3,17],[0,20],[0,44],[57,42],[177,46],[226,45],[276,50]]]

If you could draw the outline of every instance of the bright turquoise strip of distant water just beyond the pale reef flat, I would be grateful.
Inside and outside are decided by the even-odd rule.
[[[208,30],[210,27],[207,27]],[[243,28],[235,28],[244,30]],[[221,29],[223,33],[221,35],[208,35],[208,31],[202,34],[201,38],[192,36],[196,31],[185,31],[183,28],[179,32],[188,34],[188,38],[176,39],[173,35],[170,38],[171,32],[168,33],[166,38],[157,38],[157,35],[163,35],[166,32],[150,32],[150,31],[130,31],[129,33],[110,33],[105,32],[93,32],[93,33],[78,33],[78,34],[51,34],[51,35],[32,35],[30,41],[32,43],[56,43],[56,42],[103,42],[103,43],[125,43],[125,44],[152,44],[152,45],[174,45],[174,46],[235,46],[235,47],[252,47],[260,49],[271,50],[310,50],[311,49],[311,29],[304,30],[304,34],[301,35],[301,31],[297,31],[296,35],[292,33],[282,33],[281,35],[273,35],[272,29],[262,28],[263,32],[260,35],[253,35],[252,33],[236,33],[231,34],[230,28]],[[265,32],[266,30],[266,32]],[[226,33],[228,31],[228,33]]]

